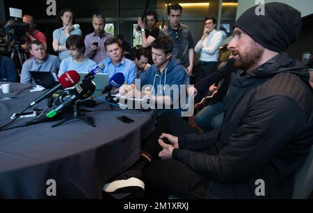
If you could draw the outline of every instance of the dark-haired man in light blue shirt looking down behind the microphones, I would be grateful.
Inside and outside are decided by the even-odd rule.
[[[58,72],[59,77],[69,70],[88,73],[97,66],[96,62],[83,55],[85,52],[83,37],[71,35],[66,40],[66,48],[70,50],[70,57],[61,62],[60,71]]]

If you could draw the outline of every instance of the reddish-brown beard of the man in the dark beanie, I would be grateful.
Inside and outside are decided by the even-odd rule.
[[[255,41],[250,43],[250,49],[244,53],[238,53],[239,60],[234,62],[234,66],[243,71],[252,71],[262,59],[264,47]]]

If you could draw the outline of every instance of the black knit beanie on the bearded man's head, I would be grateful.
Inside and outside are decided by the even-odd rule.
[[[234,24],[266,49],[278,53],[298,40],[301,31],[301,13],[285,3],[265,3],[264,15],[256,15],[254,6]]]

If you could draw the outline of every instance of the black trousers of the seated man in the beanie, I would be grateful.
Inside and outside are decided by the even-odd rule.
[[[188,166],[177,160],[160,160],[158,156],[162,150],[158,139],[162,133],[177,137],[196,133],[181,117],[172,112],[164,112],[158,117],[156,131],[143,145],[154,157],[152,163],[144,170],[145,191],[147,198],[168,198],[168,195],[179,198],[204,198],[210,181]]]

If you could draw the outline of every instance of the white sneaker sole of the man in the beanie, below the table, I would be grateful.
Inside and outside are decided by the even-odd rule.
[[[115,180],[104,185],[103,191],[111,193],[116,191],[117,189],[125,187],[141,187],[143,188],[143,190],[145,190],[145,183],[138,178],[129,178],[127,180]]]

